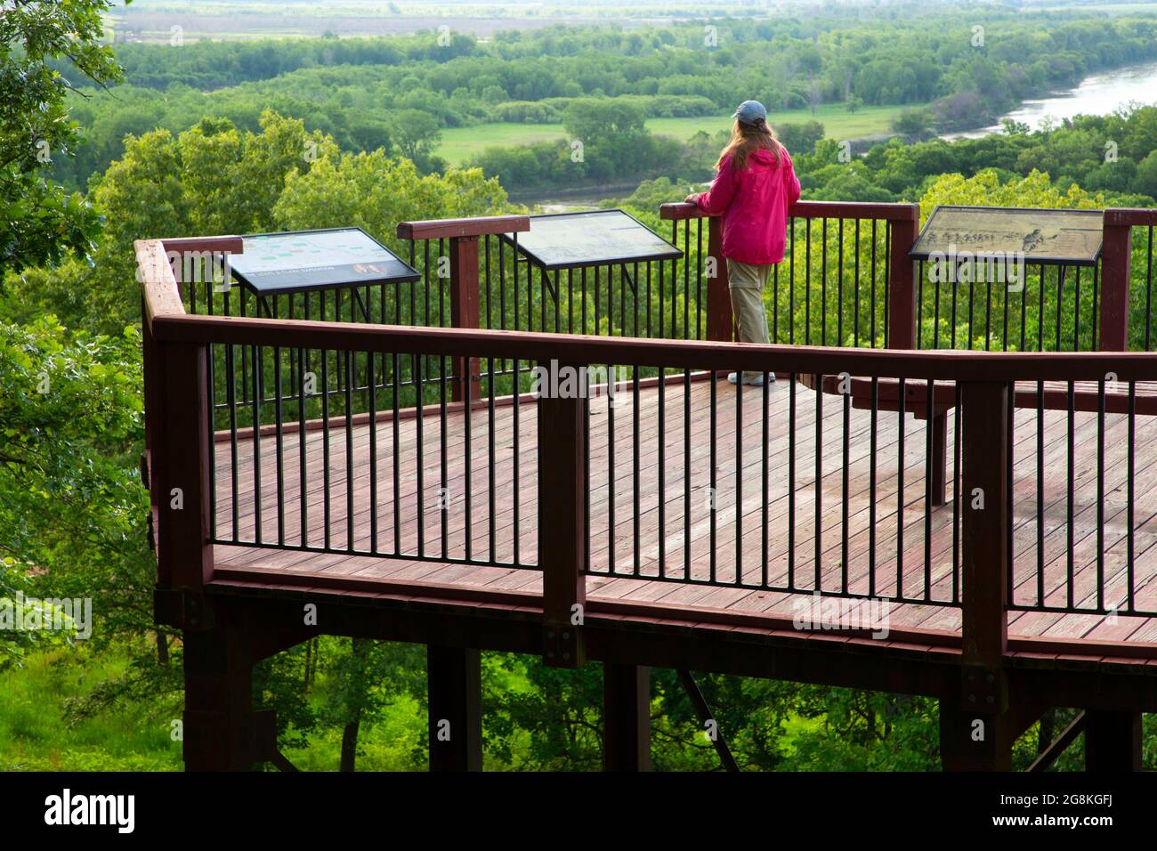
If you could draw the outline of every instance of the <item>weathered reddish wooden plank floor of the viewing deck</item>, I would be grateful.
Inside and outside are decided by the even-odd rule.
[[[662,394],[655,386],[641,388],[638,403],[629,389],[619,391],[613,409],[605,397],[591,401],[590,597],[791,617],[802,594],[736,587],[735,584],[738,578],[743,585],[758,586],[766,568],[767,582],[783,586],[790,570],[796,588],[804,594],[815,588],[819,415],[818,431],[823,447],[819,486],[821,587],[840,588],[846,570],[847,587],[853,592],[871,592],[876,596],[892,599],[898,595],[902,582],[904,594],[909,597],[923,596],[927,587],[934,600],[953,599],[955,411],[948,415],[948,502],[927,513],[926,424],[912,415],[901,418],[896,412],[879,413],[876,514],[872,522],[870,412],[848,411],[845,461],[842,399],[820,397],[821,411],[817,411],[817,395],[797,384],[791,477],[788,441],[791,393],[788,382],[781,379],[768,388],[766,418],[761,389],[744,388],[740,415],[736,388],[722,380],[717,382],[714,464],[710,394],[709,381],[695,380],[691,383],[688,399],[680,379],[669,382]],[[688,402],[690,424],[686,418]],[[899,493],[901,419],[902,494]],[[1128,579],[1127,418],[1125,415],[1106,415],[1103,536],[1098,535],[1097,518],[1097,416],[1077,412],[1074,421],[1073,602],[1084,607],[1096,603],[1097,556],[1101,551],[1103,537],[1105,603],[1106,607],[1117,604],[1123,609]],[[765,454],[761,450],[765,423],[766,526]],[[280,449],[277,436],[263,434],[258,441],[259,453],[255,452],[251,436],[241,436],[235,443],[219,440],[214,443],[218,538],[256,542],[259,506],[260,540],[266,545],[219,544],[215,549],[216,564],[231,568],[259,566],[310,574],[316,577],[318,585],[324,585],[327,577],[355,577],[494,590],[537,590],[540,574],[536,570],[445,560],[447,557],[469,557],[510,563],[516,560],[517,543],[517,560],[537,563],[537,430],[536,405],[533,401],[525,399],[517,405],[500,401],[493,410],[485,403],[474,408],[469,416],[469,428],[467,417],[458,406],[447,416],[444,435],[437,411],[399,418],[397,428],[389,419],[379,420],[373,435],[369,425],[355,425],[347,433],[344,424],[334,424],[329,430],[327,489],[323,472],[326,440],[322,431],[307,432],[304,471],[296,432],[287,431],[281,435]],[[376,446],[374,452],[371,442]],[[1042,442],[1046,474],[1042,557],[1038,555],[1037,543],[1038,442]],[[690,454],[686,450],[688,443]],[[635,446],[639,447],[638,453]],[[1157,462],[1157,417],[1136,418],[1135,446],[1134,599],[1137,609],[1152,610],[1157,608],[1157,548],[1154,545],[1157,543],[1157,476],[1150,471]],[[1068,597],[1066,578],[1070,529],[1067,520],[1067,412],[1045,412],[1044,441],[1038,441],[1037,411],[1015,412],[1012,522],[1016,603],[1031,604],[1036,601],[1039,558],[1045,565],[1042,586],[1046,603],[1062,606]],[[259,470],[255,464],[258,456]],[[376,457],[376,464],[371,464],[371,457]],[[737,468],[740,471],[738,479]],[[237,483],[236,507],[234,475]],[[794,487],[789,487],[789,479],[794,482]],[[376,482],[376,486],[371,487],[371,482]],[[398,551],[401,556],[355,556],[281,549],[275,543],[270,545],[279,536],[288,545],[302,544],[303,493],[305,542],[310,546],[325,545],[329,528],[327,549],[349,549],[352,540],[355,550],[369,551],[376,543],[378,552],[392,556]],[[352,513],[348,511],[351,497]],[[447,506],[444,526],[443,502]],[[638,512],[633,509],[634,505],[639,506]],[[742,530],[738,545],[737,514]],[[901,516],[902,552],[898,559],[897,530]],[[471,536],[469,556],[467,527]],[[927,544],[926,528],[930,531]],[[794,535],[789,536],[789,531]],[[872,533],[876,582],[870,588]],[[789,542],[789,537],[794,540]],[[417,557],[419,548],[422,558]],[[931,555],[931,566],[927,572],[926,552]],[[898,563],[902,570],[898,568]],[[688,564],[693,580],[708,580],[714,570],[716,581],[732,586],[655,579],[661,571],[668,580],[685,579]],[[952,606],[896,603],[890,607],[892,629],[956,631],[959,624],[959,609]],[[1009,634],[1157,643],[1157,618],[1010,611]]]

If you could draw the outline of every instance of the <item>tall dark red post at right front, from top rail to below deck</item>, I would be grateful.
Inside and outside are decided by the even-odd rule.
[[[1015,721],[1003,668],[1008,646],[1008,406],[997,382],[960,386],[963,665],[960,692],[941,700],[946,770],[1011,768]]]

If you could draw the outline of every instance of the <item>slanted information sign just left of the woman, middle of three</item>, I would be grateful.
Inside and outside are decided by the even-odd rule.
[[[621,210],[530,217],[518,250],[546,270],[683,257],[683,251]],[[514,244],[507,234],[502,239]]]

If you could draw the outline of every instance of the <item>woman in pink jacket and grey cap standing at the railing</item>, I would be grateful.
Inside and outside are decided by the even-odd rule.
[[[772,265],[783,259],[788,206],[799,199],[799,181],[761,103],[744,101],[732,117],[731,140],[715,163],[718,174],[706,192],[686,200],[723,217],[723,256],[739,340],[768,343],[764,287]],[[775,373],[769,377],[774,381]],[[734,384],[738,379],[731,373],[728,380]],[[743,383],[762,384],[764,374],[744,373]]]

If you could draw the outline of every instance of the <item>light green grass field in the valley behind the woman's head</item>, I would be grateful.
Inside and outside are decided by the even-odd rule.
[[[912,107],[863,107],[855,112],[848,112],[843,104],[825,104],[812,116],[806,110],[771,112],[767,118],[774,127],[776,124],[815,120],[824,125],[824,131],[833,139],[858,139],[867,135],[886,133],[892,119],[905,109]],[[706,130],[714,133],[731,126],[731,119],[720,117],[706,118],[653,118],[647,122],[647,129],[657,135],[670,135],[685,140]],[[511,145],[529,145],[536,141],[559,139],[563,135],[561,124],[477,124],[472,127],[451,127],[442,131],[442,144],[437,154],[451,166],[460,166],[480,154],[484,148]]]

